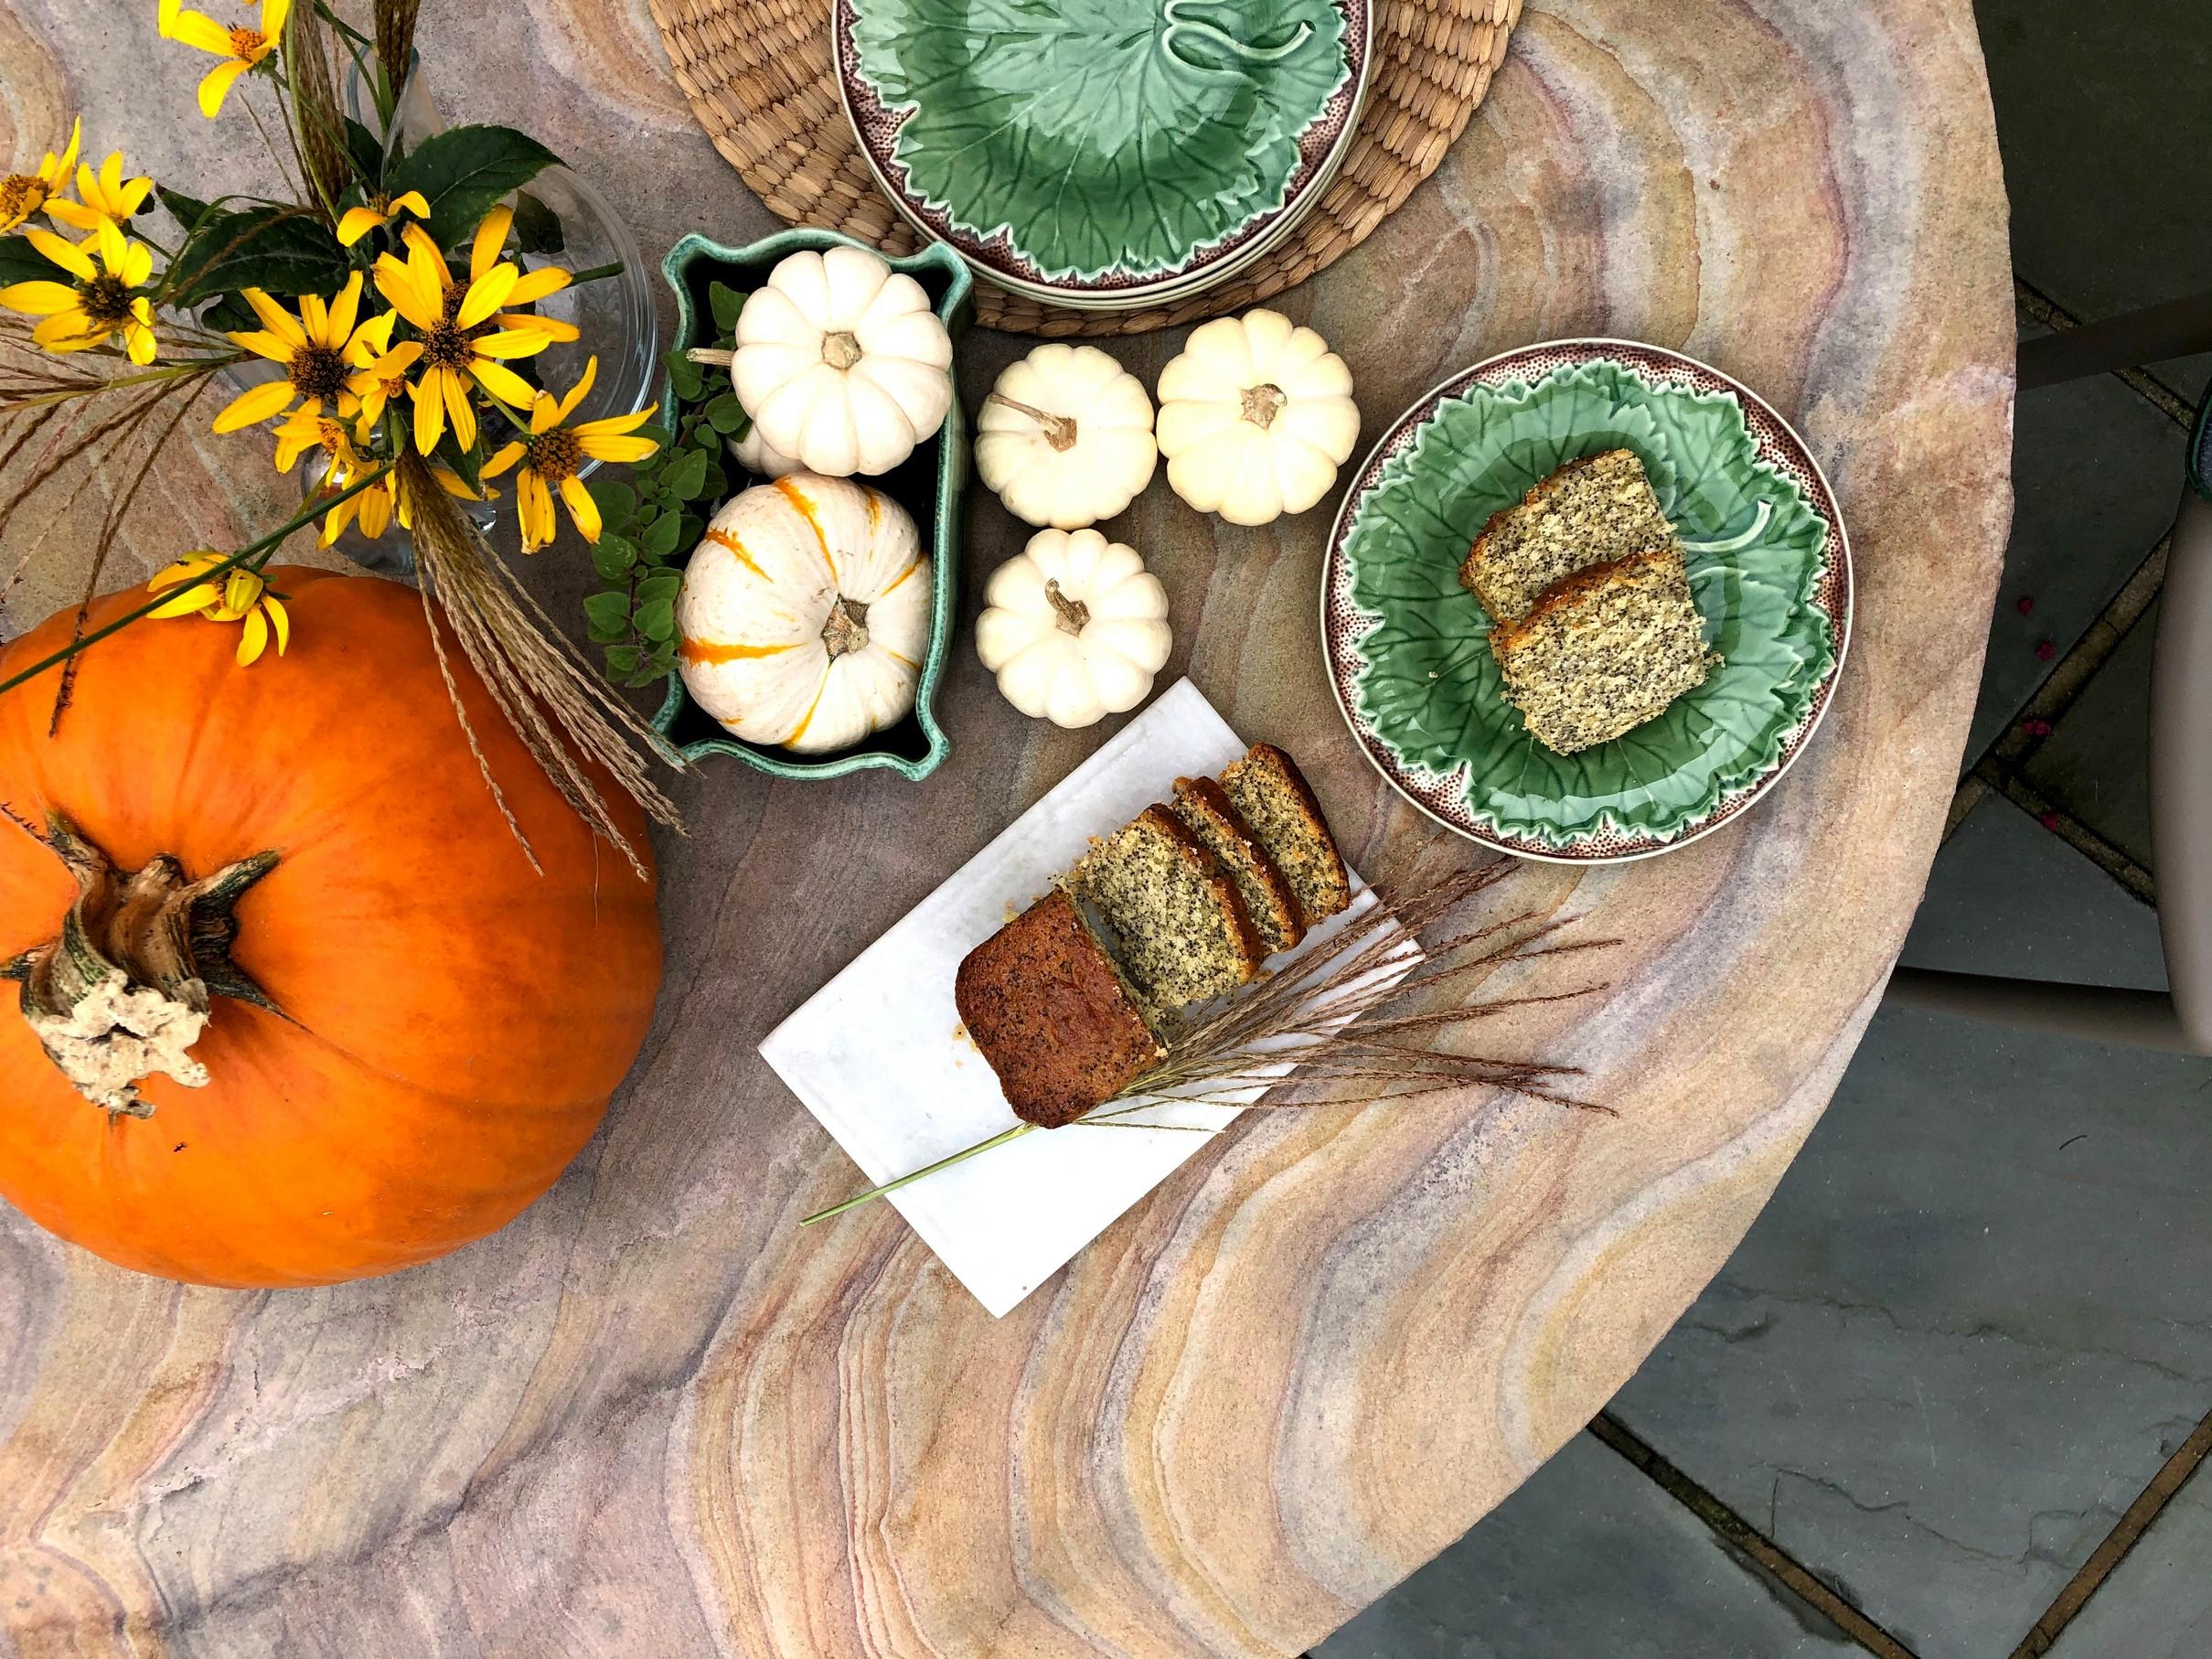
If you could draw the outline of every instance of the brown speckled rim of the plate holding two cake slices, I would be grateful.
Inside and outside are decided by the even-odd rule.
[[[1679,834],[1655,836],[1641,830],[1621,830],[1610,816],[1606,816],[1599,818],[1597,830],[1546,841],[1484,825],[1467,803],[1464,768],[1442,774],[1438,785],[1429,785],[1425,779],[1436,774],[1402,765],[1358,712],[1354,684],[1358,672],[1367,666],[1367,659],[1360,657],[1349,635],[1352,630],[1367,633],[1371,622],[1367,619],[1367,613],[1352,604],[1345,542],[1358,504],[1383,478],[1383,465],[1413,442],[1413,436],[1436,416],[1436,409],[1444,398],[1453,398],[1473,385],[1495,387],[1509,380],[1526,385],[1555,369],[1599,361],[1617,363],[1644,380],[1672,380],[1677,385],[1688,385],[1694,392],[1725,392],[1736,398],[1759,458],[1792,478],[1798,489],[1805,491],[1805,500],[1812,509],[1827,524],[1827,542],[1820,551],[1820,575],[1814,580],[1812,604],[1827,615],[1829,628],[1836,635],[1836,661],[1814,690],[1812,706],[1805,710],[1805,717],[1783,741],[1781,757],[1774,765],[1761,772],[1752,783],[1723,796],[1705,816],[1690,821]],[[1367,451],[1367,460],[1360,462],[1352,487],[1345,491],[1345,498],[1336,509],[1336,522],[1329,526],[1329,546],[1323,555],[1321,568],[1321,650],[1327,659],[1329,690],[1336,697],[1336,712],[1340,712],[1345,717],[1345,726],[1352,728],[1352,737],[1358,741],[1360,754],[1365,754],[1367,763],[1374,765],[1374,770],[1380,772],[1383,779],[1422,816],[1433,818],[1453,834],[1467,836],[1484,847],[1495,847],[1498,852],[1509,852],[1515,858],[1533,858],[1548,865],[1621,865],[1637,858],[1657,858],[1659,854],[1688,847],[1692,841],[1710,836],[1772,790],[1783,772],[1792,768],[1796,757],[1805,752],[1814,732],[1820,730],[1829,701],[1834,701],[1836,679],[1843,675],[1843,664],[1851,650],[1851,538],[1843,526],[1843,511],[1836,507],[1836,491],[1827,482],[1827,473],[1820,471],[1820,462],[1814,460],[1812,449],[1798,436],[1796,427],[1783,420],[1765,398],[1710,363],[1699,363],[1694,356],[1670,352],[1663,345],[1615,338],[1542,341],[1537,345],[1517,345],[1511,352],[1500,352],[1498,356],[1484,358],[1469,369],[1460,369],[1449,380],[1429,387],[1429,392],[1416,398],[1413,405],[1391,422],[1380,442]],[[1455,790],[1451,787],[1453,779],[1462,779]],[[1449,801],[1447,796],[1451,794],[1455,794],[1458,801]],[[1453,807],[1458,807],[1458,816],[1453,816]]]

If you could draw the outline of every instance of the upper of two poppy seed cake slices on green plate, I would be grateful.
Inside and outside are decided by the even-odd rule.
[[[1460,584],[1493,624],[1520,622],[1544,588],[1593,564],[1674,540],[1632,449],[1571,460],[1482,526]]]

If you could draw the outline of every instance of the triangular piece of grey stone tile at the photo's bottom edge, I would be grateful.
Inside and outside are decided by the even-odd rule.
[[[1314,1659],[1847,1659],[1756,1562],[1586,1433]]]

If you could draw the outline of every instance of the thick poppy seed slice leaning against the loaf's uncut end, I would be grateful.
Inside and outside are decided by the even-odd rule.
[[[1095,843],[1066,887],[1097,909],[1155,1031],[1259,973],[1259,936],[1237,883],[1168,807],[1146,807]]]

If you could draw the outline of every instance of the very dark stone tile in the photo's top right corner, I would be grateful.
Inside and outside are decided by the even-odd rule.
[[[2212,283],[2212,7],[1980,0],[2013,265],[2081,319]],[[2212,356],[2154,365],[2194,398]]]

